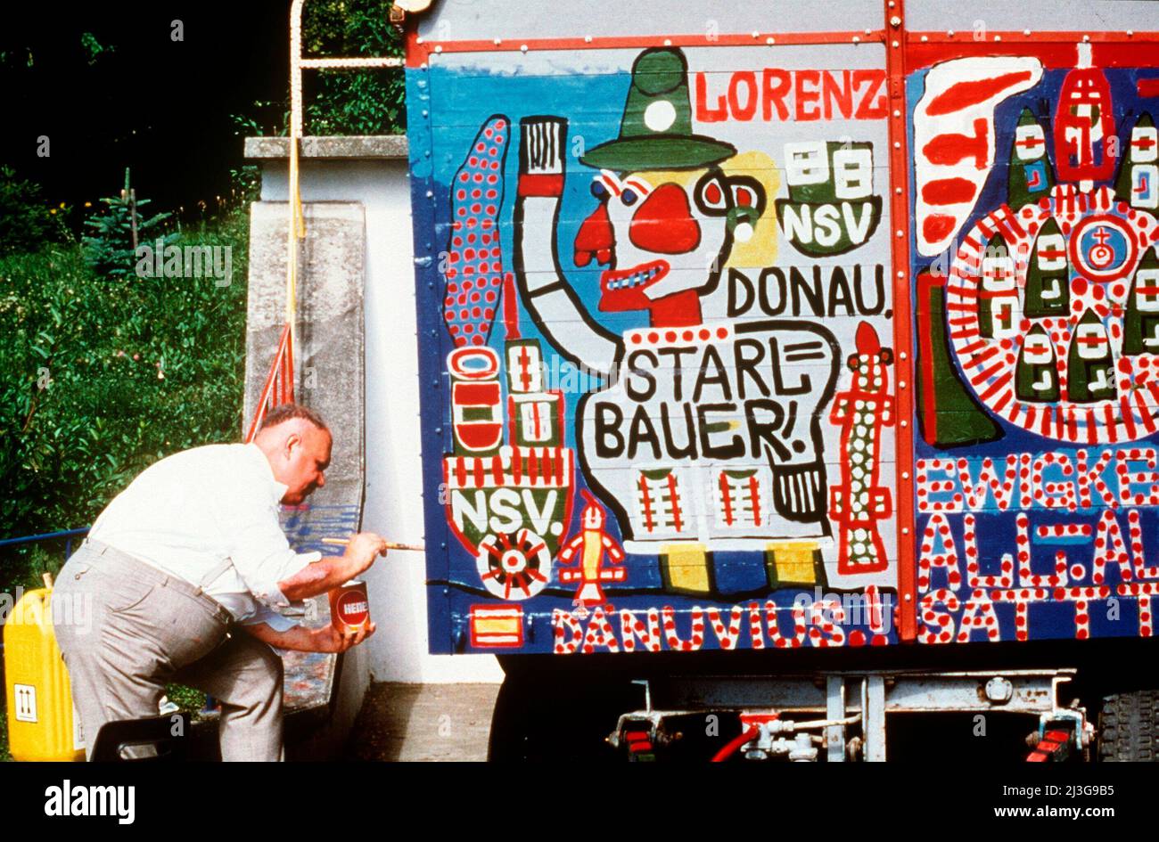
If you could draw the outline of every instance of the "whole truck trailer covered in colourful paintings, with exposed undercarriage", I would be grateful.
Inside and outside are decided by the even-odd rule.
[[[449,0],[406,74],[430,647],[500,656],[496,755],[1153,756],[1159,8]]]

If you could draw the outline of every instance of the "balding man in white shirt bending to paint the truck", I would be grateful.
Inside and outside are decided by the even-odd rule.
[[[306,629],[276,610],[386,554],[372,533],[336,557],[290,549],[278,504],[326,484],[330,442],[315,413],[277,407],[252,444],[162,459],[101,513],[56,587],[92,606],[90,627],[54,627],[90,754],[104,723],[156,716],[176,681],[220,700],[223,760],[280,759],[282,659],[270,646],[342,652],[374,631]]]

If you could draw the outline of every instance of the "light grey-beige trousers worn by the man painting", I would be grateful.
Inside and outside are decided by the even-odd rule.
[[[97,541],[57,577],[53,612],[89,756],[107,722],[158,716],[167,682],[221,702],[221,759],[280,760],[282,659],[201,588]],[[83,616],[85,622],[75,622]]]

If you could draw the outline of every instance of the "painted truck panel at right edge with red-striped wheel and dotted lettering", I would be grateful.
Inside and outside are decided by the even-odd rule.
[[[1146,637],[1159,592],[1157,73],[1028,52],[907,80],[927,643]]]

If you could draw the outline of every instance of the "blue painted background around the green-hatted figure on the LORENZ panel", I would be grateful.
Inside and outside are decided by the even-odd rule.
[[[610,140],[619,133],[622,103],[630,85],[630,75],[625,68],[620,73],[602,75],[552,75],[520,76],[505,74],[465,74],[445,67],[407,69],[407,108],[410,139],[411,206],[414,213],[416,283],[420,314],[420,378],[422,386],[422,442],[423,486],[425,490],[425,533],[428,548],[428,622],[430,651],[445,653],[469,651],[468,613],[472,605],[503,605],[487,593],[479,578],[474,557],[450,532],[446,508],[439,501],[439,485],[443,482],[442,457],[452,451],[450,427],[450,388],[446,373],[446,357],[453,345],[443,322],[444,279],[439,273],[439,252],[447,249],[451,217],[449,184],[464,162],[472,141],[480,127],[494,115],[504,115],[511,122],[503,166],[505,185],[500,211],[501,246],[504,270],[512,271],[513,232],[511,220],[515,208],[515,185],[518,174],[518,123],[522,117],[552,115],[567,117],[568,144],[582,137],[586,148]],[[608,330],[619,334],[630,328],[647,325],[647,314],[598,313],[598,272],[595,265],[584,270],[575,268],[571,261],[571,242],[584,217],[596,207],[590,192],[591,178],[597,170],[585,167],[576,155],[569,154],[567,178],[561,205],[557,246],[560,262],[573,288],[580,294],[589,313],[595,315]],[[545,365],[551,371],[555,350],[537,330],[526,310],[519,308],[520,331],[524,338],[537,338],[541,343]],[[501,353],[504,341],[502,305],[496,312],[488,345]],[[562,363],[562,360],[561,360]],[[505,374],[505,371],[504,371]],[[555,382],[548,380],[554,388]],[[504,383],[504,401],[505,401]],[[577,391],[566,394],[567,415],[564,420],[566,445],[575,447],[575,407]],[[828,407],[823,408],[828,411]],[[574,460],[576,486],[571,522],[566,525],[562,540],[576,534],[582,510],[580,489],[584,486],[578,460]],[[608,519],[608,533],[620,540],[614,518]],[[717,606],[722,610],[734,605],[759,598],[761,603],[773,599],[778,606],[792,606],[802,588],[768,591],[765,557],[763,552],[715,552],[713,554],[716,588],[721,599],[690,598],[662,592],[658,558],[656,556],[628,556],[625,565],[627,583],[621,586],[604,586],[604,593],[614,608],[644,609],[671,606],[679,613],[678,634],[688,635],[690,620],[685,612],[693,606]],[[525,647],[522,652],[551,652],[551,616],[555,608],[571,610],[571,599],[576,587],[561,586],[557,569],[553,564],[553,576],[547,588],[535,598],[520,602],[525,615]],[[826,592],[831,591],[828,588]],[[724,617],[727,620],[727,613]],[[792,614],[782,612],[781,628],[792,628]],[[619,631],[618,617],[613,628]],[[706,622],[707,625],[707,622]],[[866,631],[865,624],[845,624],[844,631]],[[742,627],[741,649],[749,646],[748,617]],[[890,640],[895,635],[890,632]],[[710,628],[705,630],[702,649],[714,649],[717,642]],[[666,650],[666,646],[665,646]],[[488,649],[502,653],[509,650]]]

